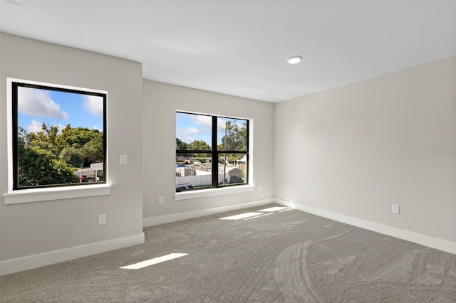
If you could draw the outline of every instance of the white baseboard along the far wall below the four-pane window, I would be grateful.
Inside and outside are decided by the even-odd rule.
[[[165,216],[157,216],[157,217],[150,217],[142,219],[142,227],[153,226],[153,225],[160,225],[165,223],[172,223],[182,220],[188,220],[193,218],[199,218],[204,216],[215,215],[216,213],[224,213],[227,211],[237,211],[239,209],[254,207],[254,206],[262,206],[266,204],[274,203],[274,199],[264,199],[252,202],[245,202],[239,204],[232,204],[228,206],[220,206],[208,209],[202,209],[199,211],[187,211],[186,213],[173,213],[171,215]]]

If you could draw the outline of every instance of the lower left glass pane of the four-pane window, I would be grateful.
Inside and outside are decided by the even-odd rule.
[[[212,186],[212,154],[176,153],[176,191]]]

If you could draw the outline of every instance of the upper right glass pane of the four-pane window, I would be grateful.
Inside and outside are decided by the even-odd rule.
[[[247,120],[218,117],[217,150],[247,151]]]

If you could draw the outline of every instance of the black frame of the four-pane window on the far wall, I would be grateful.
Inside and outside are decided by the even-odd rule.
[[[195,192],[195,191],[214,191],[217,189],[227,189],[227,188],[239,188],[239,186],[244,186],[244,187],[250,187],[249,186],[249,179],[250,179],[250,124],[251,124],[251,119],[247,118],[239,118],[239,117],[227,117],[227,116],[222,116],[222,115],[210,115],[210,114],[202,114],[199,112],[185,112],[182,110],[177,110],[176,114],[187,114],[187,115],[200,115],[200,116],[207,116],[212,118],[212,137],[211,137],[211,149],[195,149],[195,150],[182,150],[182,149],[175,149],[175,156],[177,157],[177,154],[212,154],[211,156],[211,176],[212,176],[212,186],[207,186],[204,188],[187,188],[185,191],[175,191],[176,194],[185,194],[188,192]],[[239,119],[242,121],[246,122],[246,151],[238,151],[238,150],[219,150],[217,148],[217,119],[222,118],[222,119]],[[246,156],[246,161],[247,165],[245,166],[245,182],[244,183],[238,183],[238,184],[219,184],[219,161],[218,157],[219,154],[245,154]],[[226,164],[225,164],[226,165]],[[225,176],[224,176],[225,178]],[[175,184],[177,186],[177,184]]]

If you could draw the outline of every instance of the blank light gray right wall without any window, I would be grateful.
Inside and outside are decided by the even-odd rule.
[[[276,104],[276,198],[454,250],[455,83],[452,57]]]

